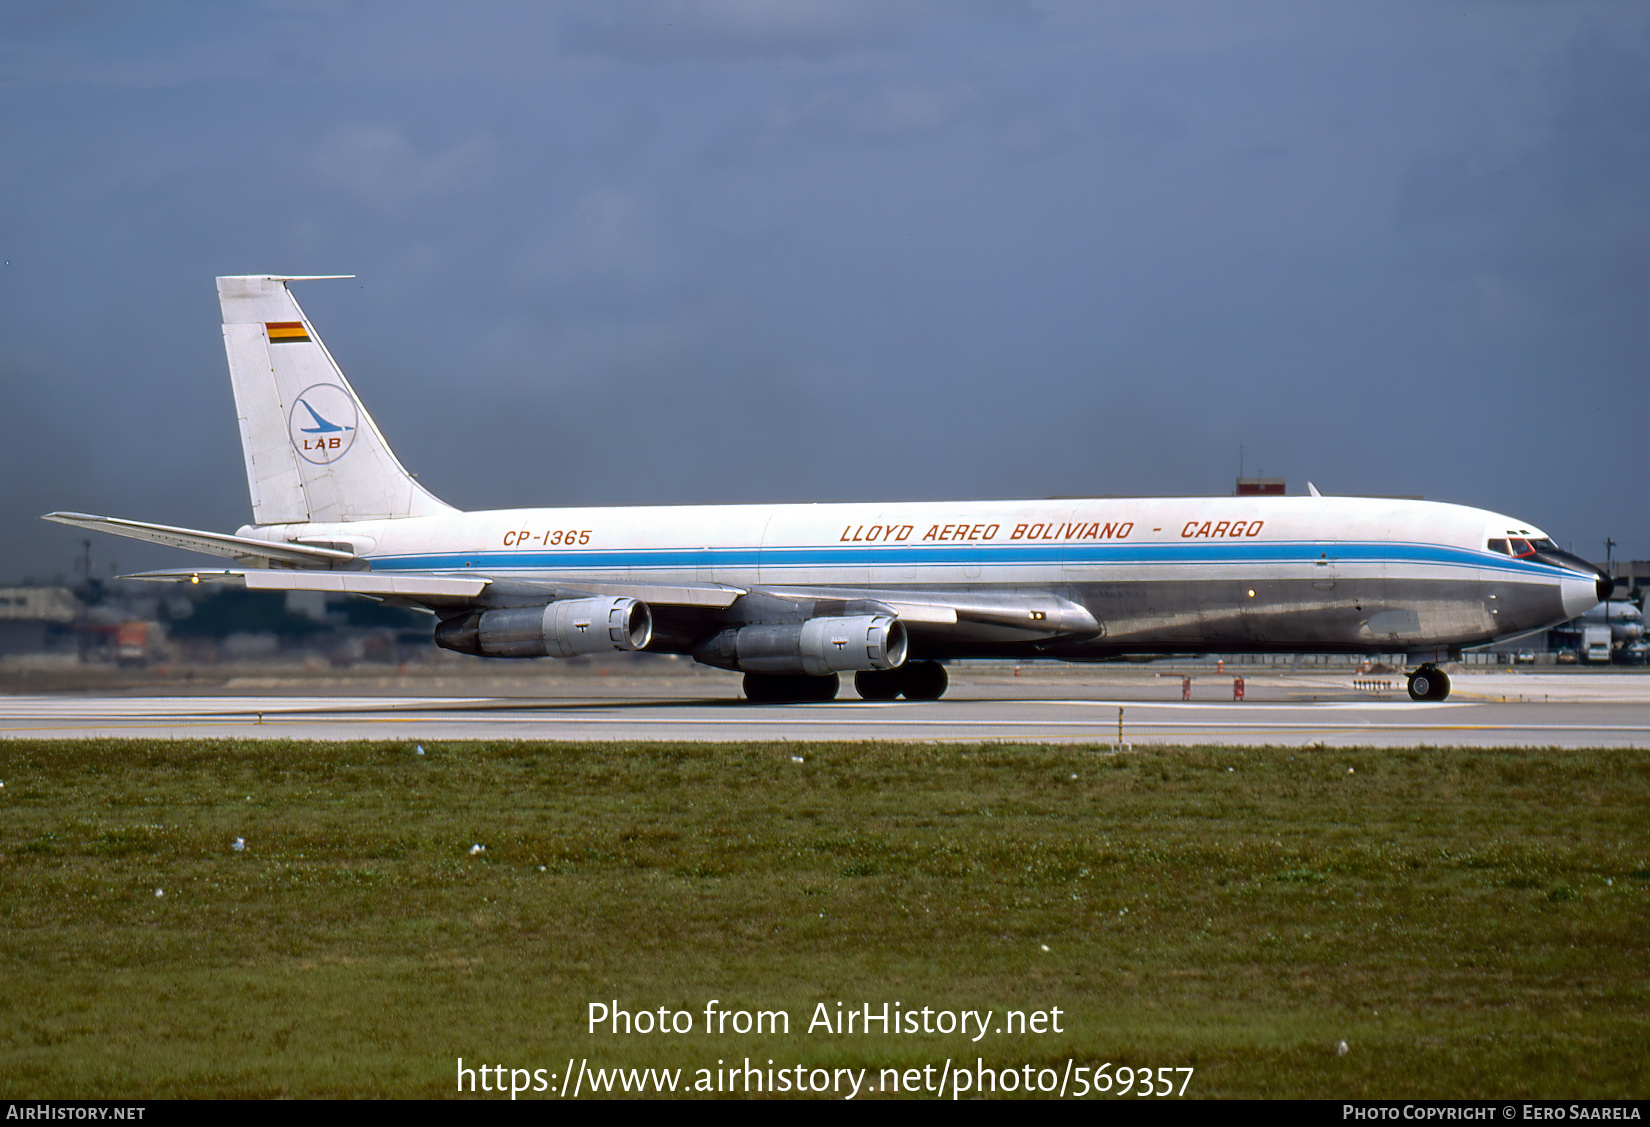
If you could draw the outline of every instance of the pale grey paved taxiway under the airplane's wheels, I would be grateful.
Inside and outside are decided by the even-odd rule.
[[[442,696],[0,696],[0,738],[238,739],[919,739],[1115,746],[1559,746],[1650,747],[1650,677],[1457,677],[1445,703],[1368,693],[1340,678],[1231,678],[1163,700],[1178,678],[1084,686],[1071,678],[954,675],[934,703],[749,705],[731,685],[647,678],[561,683],[546,695]],[[1107,691],[1110,690],[1110,691]]]

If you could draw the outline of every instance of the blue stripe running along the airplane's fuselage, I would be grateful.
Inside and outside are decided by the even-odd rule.
[[[606,548],[563,551],[441,551],[368,556],[376,571],[624,571],[686,568],[980,568],[1003,564],[1059,564],[1104,568],[1119,564],[1312,564],[1332,551],[1330,564],[1427,563],[1485,568],[1551,579],[1568,568],[1511,559],[1488,551],[1417,543],[1193,543],[1193,545],[881,545],[805,548]]]

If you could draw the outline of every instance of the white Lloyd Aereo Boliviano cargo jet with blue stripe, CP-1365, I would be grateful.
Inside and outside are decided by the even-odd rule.
[[[937,700],[947,658],[1404,653],[1440,663],[1610,591],[1525,521],[1440,502],[1163,497],[460,512],[389,444],[292,297],[219,277],[252,502],[234,535],[45,520],[228,558],[142,579],[335,591],[436,615],[498,658],[691,655],[751,701]]]

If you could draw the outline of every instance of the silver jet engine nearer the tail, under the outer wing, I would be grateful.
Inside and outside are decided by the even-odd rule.
[[[541,607],[472,611],[436,627],[436,645],[483,657],[576,657],[640,650],[653,614],[637,599],[559,599]]]

